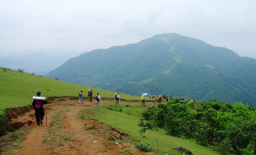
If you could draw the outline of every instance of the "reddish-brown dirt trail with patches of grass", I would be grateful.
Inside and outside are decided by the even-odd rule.
[[[121,140],[114,141],[116,139],[113,137],[118,137],[118,133],[113,128],[101,124],[98,121],[78,117],[79,111],[85,107],[96,107],[105,104],[114,104],[114,100],[101,100],[99,105],[97,105],[95,101],[90,102],[89,100],[84,100],[83,104],[78,104],[78,100],[58,101],[56,99],[53,103],[46,105],[47,125],[46,116],[42,125],[38,126],[36,124],[34,111],[26,113],[26,116],[20,116],[18,120],[30,120],[30,124],[27,126],[32,129],[25,135],[21,147],[18,150],[10,152],[8,155],[148,155],[149,153],[137,150],[133,144],[124,143]],[[129,104],[140,104],[140,102]],[[61,125],[56,130],[56,127],[53,127],[53,125],[54,117],[57,114],[59,114],[60,121],[58,122],[61,122]],[[97,130],[86,130],[86,124],[93,124]],[[99,136],[93,133],[109,133],[110,135]],[[63,143],[63,140],[58,138],[61,135],[72,137],[72,139]],[[43,141],[47,141],[48,143],[42,143]],[[111,145],[106,145],[110,142],[112,142]],[[115,142],[119,142],[118,145]],[[153,154],[155,153],[151,153],[151,155]]]

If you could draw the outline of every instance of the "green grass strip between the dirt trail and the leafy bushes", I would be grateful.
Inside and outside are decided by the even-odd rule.
[[[160,154],[178,155],[172,148],[181,146],[193,152],[193,155],[221,155],[221,153],[213,151],[211,148],[196,144],[192,139],[165,135],[165,131],[162,128],[159,128],[159,131],[147,130],[143,135],[140,135],[138,121],[146,107],[141,105],[125,105],[106,105],[103,108],[95,108],[93,110],[94,114],[85,118],[97,119],[106,125],[117,128],[120,132],[128,133],[132,140],[129,137],[127,139],[124,137],[124,140],[127,142],[139,143],[140,141],[145,144],[149,143],[150,146],[153,146],[155,152]]]

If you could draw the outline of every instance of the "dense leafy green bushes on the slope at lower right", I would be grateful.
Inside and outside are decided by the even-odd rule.
[[[254,155],[256,109],[237,102],[193,102],[181,105],[180,98],[150,106],[142,113],[140,132],[164,128],[167,135],[193,138],[223,154]]]

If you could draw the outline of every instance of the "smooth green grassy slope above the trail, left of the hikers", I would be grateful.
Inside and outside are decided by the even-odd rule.
[[[6,108],[31,104],[32,97],[36,96],[38,91],[41,92],[42,97],[78,96],[81,90],[84,96],[87,96],[88,89],[93,89],[95,96],[99,93],[101,98],[114,98],[114,93],[116,93],[0,67],[0,114]],[[125,100],[140,99],[140,97],[122,93],[120,97]]]

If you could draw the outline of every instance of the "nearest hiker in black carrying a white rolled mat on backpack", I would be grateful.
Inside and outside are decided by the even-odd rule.
[[[43,124],[43,119],[45,116],[44,112],[44,104],[47,104],[47,100],[45,97],[40,97],[41,92],[37,92],[37,97],[32,102],[32,106],[35,111],[35,120],[37,121],[37,125]],[[34,97],[33,97],[34,98]]]

